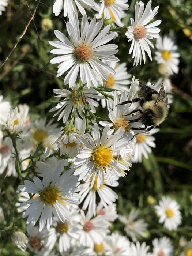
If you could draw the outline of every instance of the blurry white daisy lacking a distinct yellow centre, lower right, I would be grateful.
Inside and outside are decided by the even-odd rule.
[[[132,238],[133,241],[137,240],[137,236],[145,237],[145,230],[147,223],[143,219],[138,219],[139,210],[131,210],[128,218],[119,215],[121,222],[125,224],[125,232]]]

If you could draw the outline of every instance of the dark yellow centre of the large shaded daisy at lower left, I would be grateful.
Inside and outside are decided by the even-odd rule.
[[[53,206],[53,204],[56,203],[60,197],[61,195],[59,189],[51,185],[42,190],[40,193],[41,200],[43,200],[46,204],[50,204],[51,206]]]

